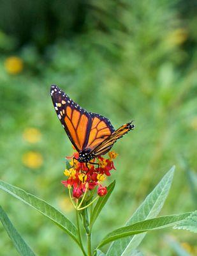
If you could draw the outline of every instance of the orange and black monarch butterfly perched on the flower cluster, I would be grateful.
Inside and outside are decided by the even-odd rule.
[[[115,131],[108,118],[87,112],[56,85],[51,86],[50,95],[62,127],[79,153],[80,163],[106,154],[117,139],[135,127],[131,121]]]

